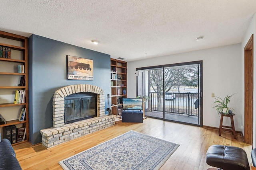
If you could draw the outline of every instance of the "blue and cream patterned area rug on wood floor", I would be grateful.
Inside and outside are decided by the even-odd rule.
[[[59,164],[64,170],[157,170],[179,145],[129,131]]]

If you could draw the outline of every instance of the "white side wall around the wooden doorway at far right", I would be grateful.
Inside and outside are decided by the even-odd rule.
[[[253,70],[253,75],[254,75],[254,80],[253,80],[253,148],[256,147],[256,14],[254,14],[254,16],[252,17],[252,20],[250,22],[250,25],[244,35],[244,40],[242,41],[242,48],[241,48],[241,53],[242,53],[242,57],[241,57],[241,63],[242,63],[242,93],[244,94],[244,47],[246,45],[246,43],[248,42],[248,40],[250,39],[250,37],[252,36],[252,34],[254,34],[254,42],[253,42],[253,48],[254,48],[254,52],[253,52],[253,56],[254,56],[254,70]],[[244,110],[244,98],[242,98],[242,110]],[[243,120],[244,122],[244,117]],[[244,129],[243,129],[243,133],[244,133]]]

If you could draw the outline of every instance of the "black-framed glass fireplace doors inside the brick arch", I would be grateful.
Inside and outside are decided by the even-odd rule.
[[[97,95],[94,93],[71,94],[64,98],[64,104],[64,124],[97,117]]]

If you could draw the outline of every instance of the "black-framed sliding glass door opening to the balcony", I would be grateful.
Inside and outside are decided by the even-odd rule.
[[[202,125],[202,61],[137,68],[137,95],[148,117]]]

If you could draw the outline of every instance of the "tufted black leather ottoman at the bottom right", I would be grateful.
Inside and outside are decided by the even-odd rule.
[[[212,145],[207,150],[206,163],[223,170],[250,170],[246,152],[238,147]]]

